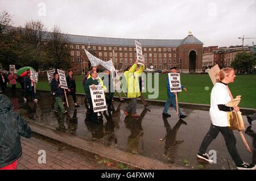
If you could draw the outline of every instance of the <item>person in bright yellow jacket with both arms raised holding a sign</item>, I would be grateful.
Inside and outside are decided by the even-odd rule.
[[[127,98],[130,98],[130,103],[128,106],[123,109],[123,112],[125,112],[125,115],[128,116],[128,114],[131,112],[131,116],[133,117],[139,117],[137,115],[137,98],[141,96],[141,91],[139,89],[139,81],[138,77],[143,73],[145,66],[141,65],[138,71],[136,71],[138,60],[136,60],[133,64],[133,66],[129,66],[125,71],[125,78],[126,78],[126,84],[127,84]]]

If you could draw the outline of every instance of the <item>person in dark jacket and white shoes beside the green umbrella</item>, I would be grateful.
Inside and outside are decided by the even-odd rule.
[[[26,102],[28,94],[31,94],[34,102],[38,102],[38,99],[36,99],[36,94],[35,94],[34,81],[30,78],[30,76],[31,76],[31,73],[30,71],[28,71],[24,80],[25,94],[23,99],[24,99],[24,102]]]

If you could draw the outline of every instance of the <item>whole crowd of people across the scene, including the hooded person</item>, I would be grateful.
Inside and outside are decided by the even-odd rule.
[[[127,117],[139,118],[140,116],[137,114],[137,99],[141,98],[144,107],[150,106],[149,103],[143,97],[142,94],[142,85],[143,79],[141,78],[141,74],[143,73],[145,67],[144,65],[138,66],[138,60],[134,62],[132,66],[128,66],[124,72],[127,86],[127,98],[130,102],[127,104],[125,108],[123,108],[123,112]],[[177,73],[177,68],[171,68],[172,73]],[[114,73],[110,72],[108,69],[104,70],[104,76],[100,77],[97,73],[97,68],[93,67],[90,71],[87,71],[84,79],[82,80],[82,85],[85,91],[85,107],[87,109],[88,119],[92,122],[98,121],[98,113],[93,111],[93,102],[92,95],[90,94],[90,86],[101,85],[105,92],[106,104],[108,107],[108,111],[113,111],[113,96],[114,92],[118,92],[118,96],[120,101],[123,101],[120,92],[121,85],[119,82],[118,71]],[[113,76],[114,74],[114,76]],[[1,83],[1,91],[5,94],[7,81],[10,81],[12,85],[11,90],[15,93],[16,86],[16,77],[15,74],[10,74],[8,77],[0,73],[0,83]],[[205,161],[212,163],[212,158],[207,154],[207,148],[210,143],[217,137],[220,132],[224,137],[226,142],[226,146],[228,148],[229,154],[232,156],[233,161],[236,163],[237,169],[247,170],[247,169],[256,169],[254,164],[245,163],[242,161],[240,155],[238,154],[236,148],[236,137],[234,136],[233,131],[228,128],[228,111],[237,112],[240,111],[239,107],[227,107],[225,106],[231,100],[230,94],[227,90],[227,85],[229,83],[234,82],[234,78],[236,75],[234,74],[234,69],[232,68],[224,68],[216,75],[217,83],[214,85],[211,96],[210,96],[210,120],[212,121],[210,125],[210,129],[206,136],[204,137],[200,149],[197,153],[197,157],[200,159],[204,159]],[[55,106],[53,111],[66,113],[64,103],[64,89],[61,89],[59,74],[56,72],[53,75],[53,79],[50,83],[52,95],[55,97]],[[76,81],[75,77],[73,77],[73,71],[68,70],[67,79],[67,96],[71,95],[73,98],[73,102],[75,103],[75,107],[79,107],[76,100]],[[113,85],[114,83],[114,85]],[[27,96],[29,94],[32,95],[34,102],[37,102],[36,94],[35,94],[35,83],[30,78],[30,71],[27,71],[26,77],[24,78],[24,101],[27,101]],[[180,119],[184,119],[187,115],[184,115],[178,104],[176,107],[175,96],[177,92],[170,91],[170,84],[167,78],[166,83],[167,88],[167,100],[163,109],[163,117],[167,119],[171,117],[168,114],[168,108],[172,105],[174,109],[178,110],[178,115]],[[181,88],[185,91],[187,89],[181,85]],[[150,111],[150,110],[149,110]],[[106,112],[104,112],[106,114]],[[8,120],[8,121],[7,121]],[[251,121],[255,120],[254,115],[247,116],[247,120],[251,124]],[[22,149],[20,146],[20,136],[31,137],[31,129],[25,123],[25,121],[18,115],[18,113],[13,112],[13,107],[11,106],[10,99],[5,95],[0,95],[0,169],[15,169],[16,164],[18,162],[18,158],[22,153]]]

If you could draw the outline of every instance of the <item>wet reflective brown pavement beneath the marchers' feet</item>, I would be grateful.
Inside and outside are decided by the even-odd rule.
[[[149,106],[147,110],[142,104],[138,104],[137,113],[141,117],[134,119],[124,115],[122,108],[126,103],[114,102],[115,111],[107,112],[106,115],[102,115],[101,121],[92,123],[86,117],[82,96],[77,96],[80,107],[76,109],[72,97],[69,96],[68,114],[62,114],[53,112],[55,101],[51,94],[48,92],[36,92],[36,94],[38,103],[31,100],[24,103],[22,90],[18,90],[16,96],[11,96],[7,92],[15,111],[19,112],[28,123],[32,122],[41,127],[72,134],[87,141],[98,142],[133,154],[141,154],[167,164],[174,163],[187,169],[236,169],[221,134],[208,148],[217,151],[217,163],[209,165],[196,157],[201,141],[210,127],[208,111],[181,109],[188,117],[179,120],[174,108],[171,107],[168,113],[172,116],[164,119],[163,107]],[[245,128],[248,128],[246,116],[243,116],[243,120]],[[251,126],[251,131],[245,133],[245,138],[253,150],[251,153],[246,150],[238,131],[234,131],[241,158],[249,163],[256,162],[256,133],[253,132],[256,132],[255,123]]]

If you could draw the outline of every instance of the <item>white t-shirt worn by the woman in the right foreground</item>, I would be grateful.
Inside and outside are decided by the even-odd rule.
[[[228,127],[228,112],[220,111],[218,104],[226,104],[231,100],[223,83],[217,82],[210,94],[210,120],[218,127]]]

